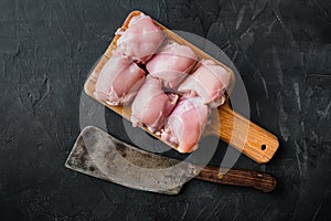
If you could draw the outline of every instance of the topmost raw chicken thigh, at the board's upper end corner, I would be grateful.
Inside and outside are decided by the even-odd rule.
[[[126,31],[118,31],[117,52],[145,64],[160,48],[166,34],[143,13],[134,17]]]

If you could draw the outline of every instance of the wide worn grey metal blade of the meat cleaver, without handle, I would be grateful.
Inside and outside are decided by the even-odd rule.
[[[92,126],[83,129],[65,166],[125,187],[167,194],[179,193],[192,178],[188,162],[140,150]]]

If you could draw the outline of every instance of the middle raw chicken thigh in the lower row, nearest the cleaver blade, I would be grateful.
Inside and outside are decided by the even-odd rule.
[[[177,101],[178,95],[162,91],[160,80],[148,76],[131,106],[134,127],[146,125],[151,133],[159,131]]]

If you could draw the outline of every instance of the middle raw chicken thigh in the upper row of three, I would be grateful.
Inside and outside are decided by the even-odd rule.
[[[168,42],[147,64],[150,75],[163,81],[168,88],[177,88],[197,61],[195,53],[186,45]]]

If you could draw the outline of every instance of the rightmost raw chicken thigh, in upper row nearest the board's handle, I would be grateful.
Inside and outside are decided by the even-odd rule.
[[[204,104],[217,107],[225,102],[225,90],[229,85],[231,73],[212,60],[202,60],[201,66],[179,86],[178,91],[195,93]]]

